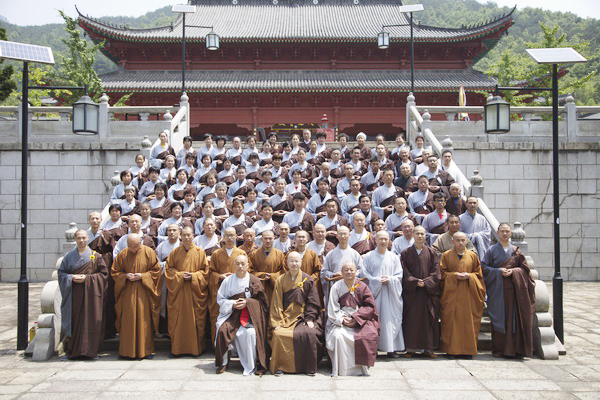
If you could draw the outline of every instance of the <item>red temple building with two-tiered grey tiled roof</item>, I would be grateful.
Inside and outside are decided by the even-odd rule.
[[[264,128],[293,132],[323,114],[338,132],[392,137],[405,128],[411,87],[409,17],[390,0],[196,0],[187,14],[185,88],[191,132],[244,135]],[[512,13],[481,25],[438,28],[415,21],[414,86],[419,104],[469,105],[495,82],[474,71],[512,25]],[[415,14],[415,20],[418,14]],[[181,14],[170,26],[116,27],[81,15],[80,26],[119,70],[101,76],[115,100],[130,105],[178,103],[181,96]],[[391,45],[377,47],[384,25]],[[208,50],[213,27],[218,50]],[[304,124],[304,125],[303,125]]]

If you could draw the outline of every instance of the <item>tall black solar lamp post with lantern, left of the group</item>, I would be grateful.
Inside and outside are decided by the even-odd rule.
[[[21,271],[17,286],[17,350],[27,348],[27,324],[29,320],[29,280],[27,278],[27,187],[29,162],[29,90],[64,89],[78,90],[85,87],[72,86],[29,86],[29,63],[54,64],[52,49],[45,46],[8,42],[0,40],[0,58],[23,62],[22,99],[21,99]],[[86,89],[87,92],[87,89]],[[89,99],[89,97],[88,97]],[[90,102],[91,99],[90,99]],[[93,103],[93,102],[92,102]],[[88,120],[94,120],[94,112],[86,109]],[[73,110],[73,130],[79,126],[79,114]],[[77,118],[77,121],[75,119]],[[95,111],[96,129],[89,126],[88,133],[98,133],[98,109]],[[87,125],[84,126],[88,128]]]

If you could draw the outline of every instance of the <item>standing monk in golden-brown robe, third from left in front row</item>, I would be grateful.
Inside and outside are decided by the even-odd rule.
[[[204,332],[208,303],[204,250],[194,245],[194,229],[181,232],[181,245],[171,252],[165,264],[169,337],[173,355],[198,356],[206,348]]]

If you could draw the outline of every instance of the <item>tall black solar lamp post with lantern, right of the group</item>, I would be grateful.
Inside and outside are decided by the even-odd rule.
[[[558,149],[558,64],[582,63],[587,60],[574,49],[552,48],[552,49],[527,49],[529,56],[538,64],[552,64],[552,87],[498,87],[496,86],[496,97],[485,105],[485,131],[486,133],[504,133],[510,130],[510,105],[507,111],[502,113],[495,111],[498,106],[499,90],[516,91],[552,91],[552,187],[554,208],[554,276],[552,277],[552,306],[553,323],[556,336],[564,344],[563,324],[563,279],[560,274],[560,190],[559,190],[559,149]],[[501,100],[501,99],[500,99]],[[488,116],[490,120],[488,121]],[[494,116],[497,116],[494,118]],[[508,128],[506,128],[508,127]]]

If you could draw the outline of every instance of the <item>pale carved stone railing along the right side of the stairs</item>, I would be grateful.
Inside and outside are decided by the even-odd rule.
[[[443,150],[452,149],[453,142],[448,135],[446,138],[440,142],[437,136],[433,132],[433,127],[435,126],[433,121],[431,121],[431,115],[425,111],[423,115],[420,114],[419,108],[416,107],[414,96],[409,95],[408,97],[408,106],[407,106],[407,139],[414,145],[414,138],[417,133],[424,136],[426,141],[434,152],[438,156],[442,155]],[[427,109],[431,109],[432,107],[427,107]],[[456,107],[454,109],[459,109],[457,112],[473,112],[473,109],[477,107]],[[425,108],[423,108],[425,110]],[[447,107],[439,107],[440,112],[446,112],[445,110],[451,109]],[[483,111],[482,107],[480,112]],[[544,111],[546,108],[543,108]],[[512,108],[511,110],[514,110]],[[464,121],[459,121],[458,123],[464,123]],[[466,122],[470,123],[470,122]],[[483,131],[483,125],[481,126],[481,131]],[[454,161],[452,161],[454,163]],[[497,239],[497,233],[499,222],[498,219],[494,216],[493,212],[487,206],[484,201],[484,187],[482,185],[483,179],[479,175],[478,171],[474,171],[474,176],[467,180],[459,169],[459,177],[456,179],[457,182],[462,184],[462,193],[463,196],[474,196],[478,198],[479,201],[479,212],[486,218],[490,227],[492,228],[492,232],[494,235],[494,239]],[[512,236],[512,243],[516,246],[519,246],[524,254],[527,254],[527,242],[525,242],[525,231],[521,228],[520,222],[514,223],[514,231]],[[539,279],[539,274],[535,270],[534,260],[527,256],[527,262],[529,264],[529,268],[531,270],[531,277],[535,281],[535,296],[536,296],[536,310],[534,316],[534,348],[538,356],[543,359],[557,359],[559,355],[559,347],[561,347],[561,351],[563,350],[562,346],[559,344],[560,342],[556,339],[554,328],[552,327],[552,316],[549,313],[549,295],[548,288],[546,284]]]

